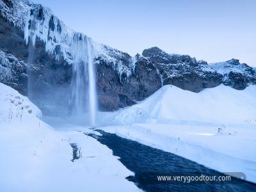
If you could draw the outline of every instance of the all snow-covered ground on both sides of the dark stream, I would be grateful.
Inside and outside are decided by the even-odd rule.
[[[0,191],[138,191],[133,173],[84,126],[42,114],[0,83]],[[256,86],[200,93],[164,86],[129,108],[102,113],[100,129],[256,182]],[[103,127],[104,126],[104,127]],[[95,134],[99,134],[94,132]],[[73,159],[76,143],[79,159]]]

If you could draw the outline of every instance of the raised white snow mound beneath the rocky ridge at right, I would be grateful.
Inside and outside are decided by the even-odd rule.
[[[221,84],[200,93],[166,85],[139,104],[112,113],[110,118],[118,124],[152,120],[244,122],[256,120],[255,95],[253,85],[241,91]]]

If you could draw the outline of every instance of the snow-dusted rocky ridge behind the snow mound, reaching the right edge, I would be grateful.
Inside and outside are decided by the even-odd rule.
[[[256,83],[255,68],[239,60],[207,64],[188,55],[168,54],[158,47],[145,49],[142,55],[161,72],[163,84],[173,84],[184,90],[200,92],[223,83],[237,90]]]

